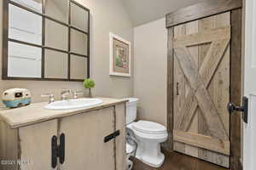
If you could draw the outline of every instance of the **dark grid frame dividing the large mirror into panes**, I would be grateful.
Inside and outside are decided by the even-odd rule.
[[[11,0],[3,0],[3,62],[2,62],[2,79],[3,80],[35,80],[35,81],[67,81],[67,82],[83,82],[84,80],[80,79],[71,79],[70,78],[70,62],[71,62],[71,55],[77,55],[80,57],[85,57],[87,59],[87,78],[90,77],[90,9],[85,8],[80,3],[77,3],[73,0],[67,0],[68,1],[68,24],[62,22],[61,20],[55,20],[54,18],[48,16],[45,14],[45,0],[42,0],[42,14],[38,13],[37,11],[32,10],[31,8],[27,8],[25,6],[20,5],[19,3],[15,3]],[[83,8],[88,12],[88,31],[83,31],[76,26],[71,25],[71,4],[75,4],[79,6],[80,8]],[[33,44],[30,42],[22,42],[19,40],[11,39],[9,38],[9,4],[15,5],[16,7],[22,8],[26,11],[29,11],[33,14],[38,14],[39,16],[42,16],[42,45]],[[45,46],[45,19],[55,21],[56,23],[59,23],[63,26],[68,27],[68,50],[64,51],[57,48],[51,48]],[[81,33],[84,33],[87,35],[87,55],[82,54],[76,54],[71,52],[71,30],[80,31]],[[32,47],[38,47],[42,48],[42,63],[41,63],[41,77],[8,77],[8,42],[18,42],[20,44],[25,44]],[[45,78],[44,77],[44,51],[45,49],[51,49],[58,52],[66,53],[68,54],[68,65],[67,65],[67,79],[62,78]]]

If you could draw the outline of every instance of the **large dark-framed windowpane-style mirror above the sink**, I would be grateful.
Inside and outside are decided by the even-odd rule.
[[[90,10],[73,0],[3,0],[3,80],[90,77]]]

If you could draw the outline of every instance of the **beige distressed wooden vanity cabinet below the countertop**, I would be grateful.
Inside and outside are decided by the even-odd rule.
[[[0,126],[1,170],[125,170],[125,104],[15,129],[3,121]],[[119,136],[105,143],[104,138],[116,131]],[[53,168],[51,140],[56,136],[60,144],[61,134],[65,160],[61,164],[58,158]]]

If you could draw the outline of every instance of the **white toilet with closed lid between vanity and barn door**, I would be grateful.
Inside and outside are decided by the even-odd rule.
[[[129,98],[129,102],[126,103],[126,129],[127,133],[132,132],[137,142],[135,156],[151,167],[161,167],[165,156],[160,150],[160,144],[165,142],[168,137],[166,127],[156,122],[143,120],[135,122],[137,119],[137,101],[138,99]],[[131,151],[131,144],[126,142],[126,153],[127,150]],[[131,154],[127,156],[131,156]],[[127,163],[131,164],[128,158]]]

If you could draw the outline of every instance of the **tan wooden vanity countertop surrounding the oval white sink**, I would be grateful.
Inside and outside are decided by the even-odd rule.
[[[84,113],[88,111],[95,111],[102,108],[110,107],[113,105],[118,105],[125,103],[127,99],[109,99],[109,98],[99,98],[103,100],[102,104],[93,105],[83,109],[75,110],[61,110],[52,111],[44,109],[47,102],[34,103],[24,107],[16,109],[4,109],[0,108],[0,119],[7,122],[11,128],[25,127],[38,122],[45,122],[55,118],[61,118],[64,116],[72,116],[79,113]]]

